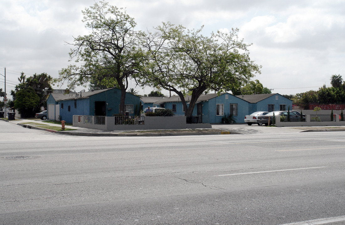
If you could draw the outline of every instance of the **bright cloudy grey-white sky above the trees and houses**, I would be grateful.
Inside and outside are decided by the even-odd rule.
[[[138,30],[162,21],[203,33],[239,28],[250,57],[262,65],[256,75],[273,93],[295,94],[330,86],[333,74],[345,78],[345,1],[343,0],[109,0],[126,8]],[[58,77],[70,62],[73,36],[87,34],[81,10],[93,0],[1,0],[0,74],[6,67],[6,91],[27,76],[46,72]],[[56,86],[54,86],[56,88]],[[4,89],[4,77],[0,76]],[[66,88],[63,86],[62,88]],[[136,87],[141,94],[150,88]],[[82,89],[82,88],[80,88]],[[80,91],[80,90],[76,90]],[[164,93],[164,92],[163,92]]]

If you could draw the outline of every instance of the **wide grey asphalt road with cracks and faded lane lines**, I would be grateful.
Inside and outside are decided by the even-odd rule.
[[[0,121],[0,224],[278,225],[344,216],[344,135],[82,137]]]

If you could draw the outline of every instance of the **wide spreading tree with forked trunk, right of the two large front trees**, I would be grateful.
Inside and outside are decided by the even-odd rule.
[[[147,76],[137,78],[142,85],[159,86],[179,95],[186,116],[191,116],[198,97],[206,90],[231,90],[246,83],[260,72],[260,66],[249,58],[238,29],[230,33],[201,35],[199,30],[187,30],[179,25],[163,23],[149,33],[146,48],[150,59]],[[190,103],[183,91],[191,91]]]

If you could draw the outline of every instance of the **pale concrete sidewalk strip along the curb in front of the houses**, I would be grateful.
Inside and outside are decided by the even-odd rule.
[[[6,120],[13,124],[22,127],[37,129],[57,134],[65,135],[79,135],[79,136],[182,136],[182,135],[218,135],[218,134],[264,134],[264,133],[295,133],[295,132],[326,132],[326,131],[345,131],[345,127],[267,127],[252,125],[248,126],[246,123],[236,124],[211,124],[212,128],[208,129],[183,129],[183,130],[116,130],[116,131],[103,131],[84,127],[65,126],[65,128],[75,129],[72,131],[54,131],[49,128],[37,127],[38,125],[30,125],[28,123],[39,123],[46,126],[58,126],[59,124],[45,123],[39,119],[18,119]],[[129,125],[130,126],[130,125]]]

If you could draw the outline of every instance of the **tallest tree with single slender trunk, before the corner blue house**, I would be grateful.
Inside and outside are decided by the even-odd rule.
[[[68,87],[85,85],[90,80],[113,78],[121,90],[120,113],[125,112],[128,79],[139,73],[143,59],[140,41],[145,34],[136,31],[136,22],[122,8],[107,2],[95,3],[82,11],[89,35],[74,38],[69,53],[76,64],[59,71],[59,79],[68,80]]]

